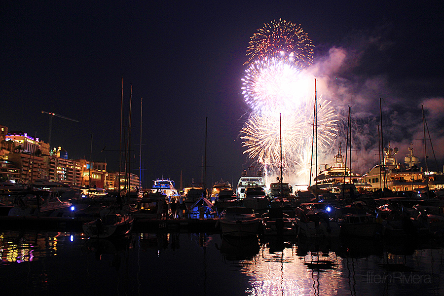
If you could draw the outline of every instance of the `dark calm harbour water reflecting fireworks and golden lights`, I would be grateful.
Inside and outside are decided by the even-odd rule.
[[[413,241],[413,242],[412,242]],[[444,295],[444,244],[0,232],[4,295]],[[2,293],[2,294],[3,294]]]

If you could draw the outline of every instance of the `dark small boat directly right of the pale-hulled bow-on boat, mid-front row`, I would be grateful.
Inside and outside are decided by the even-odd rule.
[[[262,215],[264,235],[296,235],[296,224],[282,208],[270,208]]]

